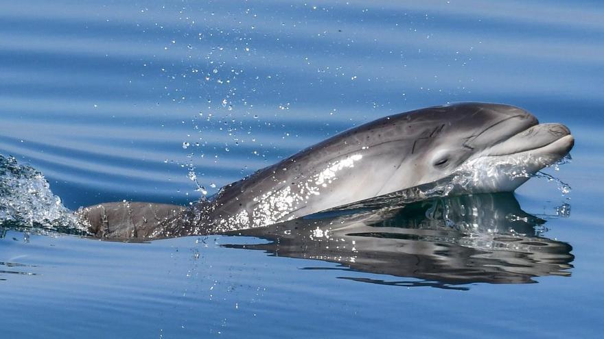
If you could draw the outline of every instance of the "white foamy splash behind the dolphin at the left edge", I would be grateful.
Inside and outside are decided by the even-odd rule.
[[[75,215],[52,194],[42,173],[0,155],[0,226],[4,225],[86,233]]]

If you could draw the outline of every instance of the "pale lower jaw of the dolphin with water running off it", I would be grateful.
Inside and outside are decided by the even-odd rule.
[[[485,151],[487,155],[480,155],[478,158],[470,160],[454,176],[452,184],[456,186],[456,192],[513,192],[542,168],[559,162],[572,149],[574,138],[568,128],[560,129],[558,128],[560,126],[564,127],[559,124],[531,127],[533,129],[531,133],[537,132],[534,129],[540,129],[538,132],[555,131],[554,134],[550,134],[549,140],[536,138],[535,141],[533,138],[532,145],[524,138],[527,135],[526,131],[502,142],[502,144],[508,144],[502,146],[509,147],[510,141],[524,141],[524,143],[514,145],[515,149],[520,150],[517,153],[491,155],[500,153],[504,149],[504,147],[496,146]]]

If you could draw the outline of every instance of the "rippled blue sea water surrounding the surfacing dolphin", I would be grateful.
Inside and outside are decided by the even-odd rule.
[[[297,251],[310,238],[295,236],[123,243],[5,228],[1,336],[599,338],[603,14],[595,1],[3,5],[0,153],[72,210],[185,205],[338,131],[453,101],[518,105],[577,142],[546,170],[572,192],[534,178],[461,204],[497,229],[427,218],[430,206],[363,221],[354,264],[351,247]],[[519,223],[498,218],[509,209]],[[326,239],[321,223],[342,218],[304,223]]]

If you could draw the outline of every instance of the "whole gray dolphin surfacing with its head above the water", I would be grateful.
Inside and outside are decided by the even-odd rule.
[[[573,144],[564,125],[511,105],[443,105],[344,131],[187,210],[104,203],[78,215],[96,236],[152,239],[264,227],[450,177],[465,192],[511,192]]]

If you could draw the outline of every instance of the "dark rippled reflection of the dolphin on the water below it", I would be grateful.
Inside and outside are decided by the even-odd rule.
[[[566,242],[543,235],[544,221],[520,209],[513,194],[430,199],[388,210],[349,210],[233,232],[270,240],[228,244],[272,255],[337,262],[336,269],[423,281],[342,277],[397,286],[460,288],[460,284],[534,283],[570,276]],[[325,269],[312,268],[306,269]]]

